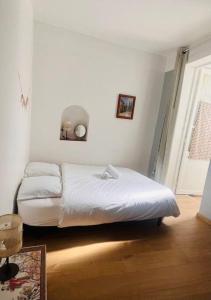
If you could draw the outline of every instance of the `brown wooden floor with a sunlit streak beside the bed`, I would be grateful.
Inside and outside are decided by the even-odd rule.
[[[181,216],[153,223],[26,230],[47,245],[48,300],[211,299],[211,226],[200,198],[178,196]]]

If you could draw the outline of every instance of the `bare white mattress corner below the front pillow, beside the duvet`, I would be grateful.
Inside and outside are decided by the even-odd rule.
[[[61,198],[18,201],[18,212],[24,224],[31,226],[57,226],[61,202]]]

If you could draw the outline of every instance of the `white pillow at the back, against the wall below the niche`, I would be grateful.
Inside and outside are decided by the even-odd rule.
[[[33,176],[61,176],[59,166],[45,162],[30,162],[24,173],[25,177]]]

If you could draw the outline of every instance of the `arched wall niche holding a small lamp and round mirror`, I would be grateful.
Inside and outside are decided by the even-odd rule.
[[[88,134],[89,115],[78,105],[67,107],[62,114],[60,140],[86,141]]]

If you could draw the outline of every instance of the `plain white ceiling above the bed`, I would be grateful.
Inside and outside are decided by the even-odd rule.
[[[35,19],[162,53],[211,34],[211,0],[32,0]]]

